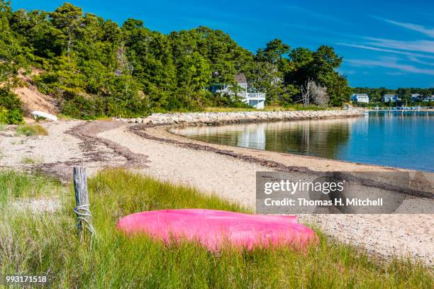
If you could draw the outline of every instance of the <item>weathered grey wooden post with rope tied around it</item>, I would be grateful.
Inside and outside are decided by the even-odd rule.
[[[83,227],[85,227],[86,225],[87,227],[89,227],[89,225],[91,224],[86,169],[84,169],[84,167],[82,166],[74,166],[74,191],[76,203],[74,212],[77,214],[77,229],[81,238]]]

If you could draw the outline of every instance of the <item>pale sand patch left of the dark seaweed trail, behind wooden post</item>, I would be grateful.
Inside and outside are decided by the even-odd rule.
[[[110,123],[112,126],[106,129],[116,128],[118,125]],[[16,126],[8,125],[4,136],[0,137],[0,168],[38,171],[69,182],[72,179],[73,166],[86,166],[91,175],[105,166],[119,166],[127,162],[125,157],[97,138],[82,140],[80,131],[82,132],[83,128],[80,125],[84,124],[90,125],[91,122],[41,122],[40,125],[48,131],[48,135],[34,137],[16,136]],[[74,131],[77,135],[74,135]],[[43,162],[23,162],[23,159],[40,159]]]

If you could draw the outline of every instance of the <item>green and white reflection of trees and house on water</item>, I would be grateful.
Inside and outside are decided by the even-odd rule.
[[[351,125],[355,121],[355,118],[301,120],[189,127],[174,132],[223,145],[335,158],[341,145],[348,141]]]

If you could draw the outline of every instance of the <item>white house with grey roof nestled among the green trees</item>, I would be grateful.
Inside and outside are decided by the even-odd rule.
[[[243,73],[235,75],[235,82],[238,84],[238,89],[235,89],[237,91],[237,96],[240,96],[249,106],[257,109],[264,108],[265,94],[262,92],[248,92],[247,79]],[[219,94],[235,94],[230,85],[227,84],[215,84],[211,87],[211,92]]]

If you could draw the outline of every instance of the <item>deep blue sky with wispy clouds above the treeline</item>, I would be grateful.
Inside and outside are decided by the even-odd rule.
[[[54,10],[64,1],[12,0],[14,9]],[[351,86],[434,87],[434,1],[69,0],[84,11],[151,30],[208,26],[256,51],[273,38],[291,47],[331,45]]]

